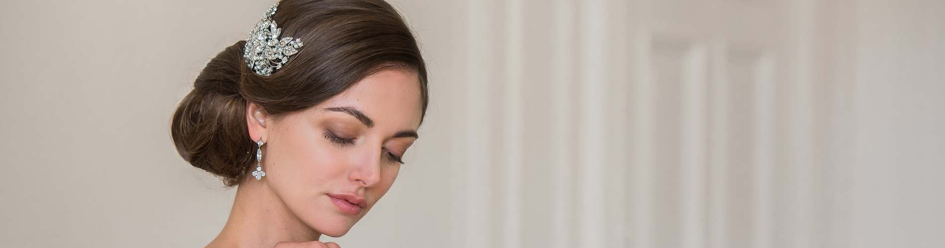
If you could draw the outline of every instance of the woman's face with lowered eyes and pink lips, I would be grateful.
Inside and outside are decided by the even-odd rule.
[[[415,73],[388,70],[303,111],[266,121],[264,177],[289,211],[319,233],[348,233],[387,193],[417,140]]]

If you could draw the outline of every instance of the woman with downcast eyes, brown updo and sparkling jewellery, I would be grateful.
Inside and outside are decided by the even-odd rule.
[[[390,189],[427,107],[426,69],[383,0],[284,0],[198,75],[180,156],[236,186],[208,247],[337,247]]]

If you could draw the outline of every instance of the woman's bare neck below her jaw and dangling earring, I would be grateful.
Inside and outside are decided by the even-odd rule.
[[[285,207],[265,178],[256,181],[247,176],[236,190],[230,218],[207,247],[273,247],[281,241],[305,242],[320,236]]]

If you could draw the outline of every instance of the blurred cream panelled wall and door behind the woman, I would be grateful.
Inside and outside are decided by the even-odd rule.
[[[196,247],[170,115],[272,1],[4,1],[0,240]],[[945,1],[397,0],[423,139],[342,247],[943,247]]]

